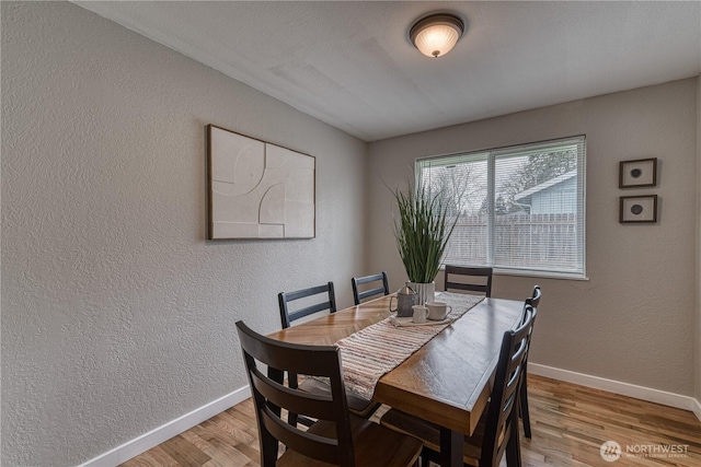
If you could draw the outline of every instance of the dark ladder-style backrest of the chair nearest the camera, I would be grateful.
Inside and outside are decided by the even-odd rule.
[[[355,457],[341,353],[332,346],[300,346],[269,339],[237,323],[249,383],[253,393],[261,444],[261,465],[277,462],[278,443],[307,457],[354,466]],[[267,365],[267,374],[258,364]],[[331,395],[304,393],[285,386],[285,372],[327,377]],[[322,437],[288,424],[280,409],[304,413],[335,425],[336,437]]]

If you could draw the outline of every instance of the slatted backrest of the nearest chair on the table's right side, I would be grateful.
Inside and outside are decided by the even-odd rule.
[[[518,394],[532,316],[533,307],[526,305],[524,322],[517,329],[504,332],[484,428],[481,466],[498,465],[510,437],[518,439]]]

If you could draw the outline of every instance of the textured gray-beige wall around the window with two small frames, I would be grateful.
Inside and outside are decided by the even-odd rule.
[[[369,266],[405,277],[390,186],[417,156],[586,133],[588,281],[495,278],[496,296],[543,288],[531,361],[691,396],[694,392],[697,79],[605,95],[370,144]],[[659,157],[659,184],[618,188],[621,160]],[[656,192],[657,225],[618,222],[618,198]],[[439,283],[443,277],[438,278]]]

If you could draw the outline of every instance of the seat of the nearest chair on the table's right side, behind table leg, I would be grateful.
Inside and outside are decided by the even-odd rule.
[[[464,436],[463,458],[464,464],[471,466],[480,465],[480,455],[482,454],[482,439],[484,435],[484,427],[486,424],[486,410],[482,415],[478,427],[472,436]],[[440,427],[427,422],[417,417],[402,412],[401,410],[390,409],[380,419],[383,427],[399,431],[400,433],[410,434],[421,439],[426,447],[435,453],[440,452]]]

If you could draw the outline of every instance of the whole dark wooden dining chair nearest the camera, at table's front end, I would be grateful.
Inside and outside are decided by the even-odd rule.
[[[261,466],[418,465],[421,441],[348,412],[338,348],[281,342],[256,334],[243,322],[237,323],[237,329],[255,406]],[[285,386],[286,372],[329,378],[331,394]],[[318,421],[308,430],[290,427],[281,409]],[[286,450],[278,458],[279,443]]]

